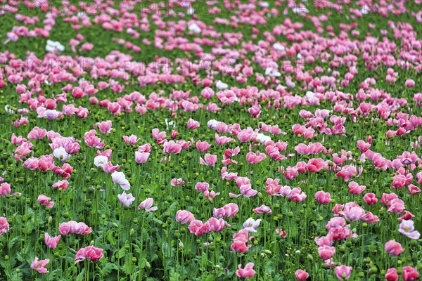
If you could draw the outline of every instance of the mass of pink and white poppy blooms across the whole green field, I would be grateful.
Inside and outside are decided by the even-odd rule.
[[[198,19],[196,11],[199,9],[194,8],[195,1],[170,1],[166,11],[162,10],[162,6],[160,8],[151,3],[143,6],[140,14],[132,13],[132,8],[129,8],[131,5],[122,5],[115,9],[111,1],[96,5],[92,10],[82,4],[77,8],[63,2],[62,5],[68,8],[69,14],[61,18],[58,8],[37,7],[25,1],[23,6],[30,8],[30,11],[39,8],[40,15],[48,11],[42,22],[38,16],[30,17],[20,13],[19,11],[23,10],[22,7],[18,8],[16,1],[9,2],[11,3],[1,5],[0,17],[15,15],[14,18],[19,23],[6,33],[6,46],[23,41],[25,37],[49,37],[56,27],[56,20],[62,20],[79,32],[74,38],[62,41],[64,44],[59,41],[46,41],[45,51],[48,53],[44,60],[40,60],[35,53],[27,53],[27,58],[17,58],[10,51],[0,53],[1,62],[6,64],[5,67],[1,66],[4,72],[0,72],[0,89],[7,87],[6,89],[11,90],[10,95],[13,98],[7,98],[8,101],[14,98],[19,100],[19,104],[5,107],[5,111],[13,116],[9,124],[14,132],[7,136],[14,145],[13,161],[18,162],[28,173],[39,171],[60,177],[60,180],[51,184],[54,191],[69,192],[75,188],[71,185],[71,177],[74,177],[75,173],[84,174],[84,171],[75,172],[70,163],[82,153],[93,152],[95,157],[87,166],[96,166],[101,177],[110,178],[110,181],[115,183],[113,187],[107,186],[105,189],[116,186],[117,190],[121,188],[119,193],[122,193],[118,194],[117,198],[106,200],[120,202],[128,209],[136,206],[134,202],[139,200],[139,197],[133,191],[129,193],[133,185],[132,178],[126,176],[127,171],[120,169],[122,163],[116,164],[115,160],[112,161],[115,150],[108,148],[108,140],[115,138],[115,142],[122,141],[127,147],[136,149],[132,152],[132,159],[136,164],[145,166],[155,160],[151,158],[157,155],[158,162],[167,163],[172,162],[175,155],[183,158],[188,151],[196,150],[194,155],[197,156],[201,171],[219,171],[222,181],[227,185],[235,183],[238,192],[217,190],[207,181],[197,181],[193,185],[194,190],[198,191],[197,195],[207,198],[210,202],[218,202],[217,199],[227,193],[226,204],[219,205],[222,207],[215,205],[212,211],[209,210],[212,216],[198,219],[200,214],[188,209],[179,209],[176,214],[171,214],[177,226],[179,223],[188,224],[188,231],[193,237],[229,233],[234,228],[235,231],[230,233],[232,238],[228,242],[232,254],[247,255],[250,249],[255,247],[255,233],[260,232],[262,225],[273,215],[274,201],[281,204],[291,203],[289,206],[309,200],[320,204],[321,207],[334,204],[333,197],[336,195],[333,192],[318,190],[313,194],[302,185],[303,183],[306,186],[309,181],[295,181],[298,178],[314,178],[316,175],[340,178],[340,181],[347,183],[346,190],[349,194],[341,198],[341,204],[334,204],[331,215],[327,218],[326,235],[312,237],[318,246],[319,258],[326,268],[333,268],[338,280],[350,279],[354,271],[352,266],[342,264],[344,261],[335,256],[338,244],[360,235],[356,228],[352,228],[352,223],[381,222],[382,211],[379,211],[380,214],[373,214],[375,209],[371,209],[372,207],[379,206],[385,209],[386,213],[397,216],[398,222],[392,221],[389,226],[397,224],[394,231],[395,234],[402,235],[399,236],[400,239],[420,238],[414,221],[416,214],[411,213],[412,202],[407,198],[418,197],[421,192],[422,172],[419,169],[422,159],[417,151],[422,137],[416,134],[422,126],[418,108],[422,105],[422,93],[413,91],[418,86],[414,77],[402,76],[404,73],[409,74],[406,70],[421,72],[422,41],[418,39],[417,30],[409,23],[389,21],[390,30],[380,31],[384,36],[383,40],[371,34],[364,40],[359,40],[361,34],[357,22],[340,23],[340,34],[335,34],[332,26],[323,27],[323,23],[330,20],[327,15],[311,15],[305,4],[294,4],[291,1],[288,1],[287,5],[278,0],[272,3],[239,2],[236,7],[232,7],[231,1],[224,0],[222,6],[227,11],[237,9],[239,13],[233,13],[230,20],[217,17],[212,23]],[[186,13],[174,13],[174,5],[177,4],[186,8]],[[420,0],[415,1],[415,5],[420,4]],[[219,15],[221,12],[218,1],[207,1],[206,6],[212,15]],[[328,6],[334,13],[349,7],[347,1],[344,5],[317,1],[312,8],[319,11]],[[362,1],[358,8],[348,8],[348,12],[352,20],[357,20],[370,13],[388,16],[402,15],[409,11],[404,1],[396,1],[394,4],[381,1],[376,11],[373,11],[366,1]],[[302,22],[292,22],[288,17],[271,26],[271,30],[267,29],[269,18],[289,13],[294,13],[303,20],[311,20],[316,32],[306,30]],[[153,14],[151,20],[145,16],[148,14]],[[422,13],[409,14],[417,22],[422,22]],[[166,18],[188,17],[191,18],[171,21],[169,24],[166,22]],[[28,26],[20,25],[20,22]],[[31,30],[31,26],[35,24],[42,27],[34,26]],[[188,58],[157,57],[151,61],[136,62],[128,53],[110,51],[103,58],[98,57],[85,64],[75,53],[97,51],[97,46],[86,41],[88,37],[83,35],[85,27],[92,25],[104,32],[114,32],[113,42],[127,48],[129,53],[143,52],[143,49],[151,48],[153,44],[154,48],[169,53],[191,52],[193,55],[188,55]],[[215,28],[219,26],[236,29],[242,25],[252,26],[250,38],[242,32],[221,33]],[[154,27],[158,28],[153,30]],[[369,23],[368,27],[370,32],[377,30],[375,24]],[[139,42],[137,39],[141,38],[142,32],[152,34],[153,31],[153,43],[144,38],[141,40],[142,46],[134,44]],[[264,35],[265,40],[257,41],[260,35]],[[194,37],[193,41],[184,36]],[[401,46],[397,46],[388,36],[400,37]],[[286,37],[286,41],[280,41],[281,37]],[[80,48],[77,49],[77,46]],[[207,53],[205,50],[209,46],[212,48]],[[74,53],[73,56],[60,55],[67,52],[68,47]],[[231,58],[236,58],[236,65]],[[38,63],[34,64],[34,61]],[[51,61],[53,63],[49,64]],[[319,61],[323,64],[307,70],[307,66]],[[69,63],[68,66],[66,63]],[[180,67],[174,67],[177,64]],[[383,67],[387,68],[384,77],[362,77],[362,73],[366,74],[367,70]],[[396,71],[397,69],[399,71]],[[203,70],[206,77],[203,76]],[[403,97],[397,98],[396,93],[381,89],[383,84],[385,88],[389,88],[397,86],[398,83],[406,91]],[[166,90],[158,89],[159,84],[165,84]],[[381,86],[378,86],[379,84]],[[57,85],[61,85],[56,87],[57,92],[47,94],[46,86]],[[347,89],[351,89],[353,85],[356,89],[347,93]],[[181,90],[182,86],[193,86],[195,91],[186,91],[186,87]],[[128,90],[133,87],[136,91]],[[153,90],[145,93],[145,89]],[[248,121],[242,124],[228,121],[229,119],[218,121],[217,119],[221,118],[219,112],[231,107],[236,110],[241,108],[241,114],[245,113],[250,117]],[[98,116],[93,117],[96,112],[101,113],[99,116],[102,119],[98,120]],[[165,119],[165,126],[154,123],[151,136],[149,132],[142,136],[139,133],[128,136],[129,133],[124,132],[124,135],[120,136],[113,130],[113,122],[121,115],[136,114],[132,116],[142,118],[151,112],[159,112],[162,115],[169,113],[172,119],[170,122]],[[179,112],[189,117],[187,122],[186,119],[184,122],[179,121]],[[206,112],[207,116],[211,117],[201,117],[198,121],[196,112]],[[271,119],[269,113],[274,115],[274,112],[285,118],[293,115],[294,124],[290,124],[291,127],[284,126],[275,116]],[[48,121],[55,124],[73,117],[77,117],[78,122],[79,119],[91,122],[89,130],[80,136],[83,141],[78,140],[77,136],[62,136],[52,129],[48,131],[41,125],[32,127],[32,124],[37,122],[46,124]],[[382,136],[378,134],[373,135],[374,137],[369,135],[372,132],[361,131],[362,138],[354,139],[354,142],[348,145],[352,150],[343,147],[336,150],[332,145],[332,140],[351,136],[354,133],[352,128],[359,124],[365,126],[368,122],[383,124],[383,128],[387,129],[381,131]],[[29,132],[20,133],[29,126]],[[186,127],[188,131],[181,129],[181,126]],[[212,138],[205,140],[198,132],[206,133]],[[190,138],[190,134],[195,134],[195,138]],[[384,145],[389,147],[390,142],[407,141],[409,136],[416,137],[405,145],[407,151],[397,149],[390,152],[383,148]],[[35,153],[41,148],[39,142],[46,138],[49,147],[35,157]],[[330,141],[324,141],[325,138]],[[300,143],[292,145],[292,140],[300,140]],[[289,163],[288,166],[284,165],[286,162]],[[260,186],[256,184],[255,176],[265,164],[276,165],[280,176],[266,176],[264,186]],[[238,166],[247,166],[248,171],[238,169]],[[376,192],[371,190],[371,183],[362,182],[368,167],[383,175],[390,173],[391,183],[388,182],[387,188],[395,192]],[[184,176],[172,178],[172,187],[192,185]],[[289,182],[292,186],[287,184]],[[0,178],[0,184],[1,197],[21,195],[13,190],[15,186],[3,178]],[[263,192],[260,192],[261,190]],[[312,196],[308,197],[311,193]],[[51,209],[56,206],[57,198],[48,195],[49,193],[37,194],[34,198],[37,198],[37,202],[42,206]],[[155,198],[154,202],[153,197],[148,196],[141,199],[143,201],[137,204],[137,209],[155,213],[165,211],[159,209],[161,202],[157,203],[158,198]],[[256,202],[252,200],[257,197],[274,201],[268,201],[271,202],[270,206],[267,206],[267,203],[256,204],[248,210],[252,216],[259,218],[239,214],[239,205],[236,202]],[[355,202],[356,198],[361,197],[362,203]],[[235,198],[238,198],[238,201],[235,201]],[[91,225],[89,221],[87,223]],[[17,226],[10,226],[8,216],[1,216],[0,236],[6,235],[11,227]],[[94,230],[95,227],[93,226]],[[283,239],[290,234],[290,229],[287,228],[271,228],[271,231]],[[45,233],[44,242],[47,247],[55,249],[63,236],[87,235],[92,233],[92,229],[86,223],[68,221],[60,223],[58,233],[60,235],[54,237]],[[399,256],[406,251],[402,247],[405,240],[400,240],[400,243],[394,239],[383,238],[384,250],[391,256]],[[203,243],[204,247],[210,245],[210,242]],[[77,249],[75,264],[85,259],[97,261],[103,256],[103,249],[90,245]],[[30,268],[39,273],[49,273],[46,268],[49,262],[50,259],[39,260],[36,256]],[[254,267],[252,256],[246,256],[243,263],[237,264],[235,274],[243,278],[253,277],[257,273],[255,269],[261,270]],[[396,268],[385,270],[386,280],[399,278]],[[401,271],[406,281],[418,278],[418,270],[412,266],[402,266]],[[309,273],[298,269],[295,271],[295,277],[298,280],[306,280]]]

